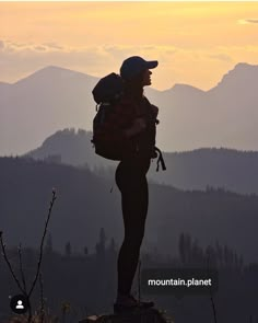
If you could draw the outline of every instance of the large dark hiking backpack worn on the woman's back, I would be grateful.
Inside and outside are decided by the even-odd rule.
[[[96,105],[96,115],[93,119],[93,139],[95,153],[110,160],[121,160],[124,143],[114,123],[113,106],[122,96],[122,79],[110,73],[101,79],[92,91]]]

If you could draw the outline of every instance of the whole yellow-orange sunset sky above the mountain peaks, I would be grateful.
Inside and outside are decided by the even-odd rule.
[[[0,2],[0,81],[46,66],[91,76],[124,59],[159,60],[152,86],[215,86],[258,65],[258,2]]]

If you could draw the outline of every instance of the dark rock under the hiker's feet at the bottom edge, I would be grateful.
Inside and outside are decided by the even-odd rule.
[[[89,316],[79,323],[174,323],[172,319],[156,309],[133,310],[125,314],[110,315],[93,315]]]

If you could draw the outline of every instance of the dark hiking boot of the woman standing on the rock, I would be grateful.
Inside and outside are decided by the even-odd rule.
[[[121,296],[118,295],[117,301],[114,304],[114,313],[115,314],[120,314],[120,313],[127,313],[130,311],[133,311],[136,309],[150,309],[154,307],[154,302],[152,301],[138,301],[134,299],[133,296],[128,295],[128,296]]]

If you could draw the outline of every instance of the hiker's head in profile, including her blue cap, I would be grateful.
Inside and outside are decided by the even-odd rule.
[[[151,85],[150,69],[157,67],[157,60],[146,61],[139,56],[132,56],[124,60],[120,67],[120,76],[132,88],[143,89]]]

